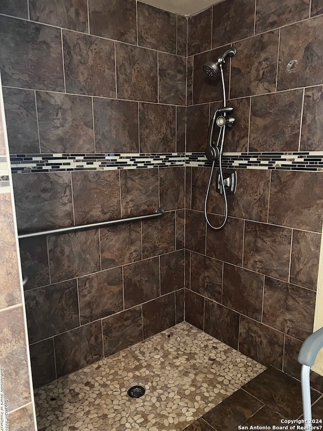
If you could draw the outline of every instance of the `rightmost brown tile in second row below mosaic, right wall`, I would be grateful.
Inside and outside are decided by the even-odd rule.
[[[290,282],[316,290],[321,235],[293,231]]]

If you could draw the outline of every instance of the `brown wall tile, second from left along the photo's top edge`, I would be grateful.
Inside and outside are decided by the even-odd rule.
[[[30,0],[30,19],[87,33],[86,0]]]

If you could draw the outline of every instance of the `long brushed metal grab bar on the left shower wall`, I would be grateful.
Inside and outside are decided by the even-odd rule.
[[[163,208],[158,208],[154,214],[147,214],[147,215],[143,215],[143,216],[128,217],[128,218],[120,218],[118,220],[102,221],[99,223],[81,224],[78,226],[61,227],[59,229],[42,230],[40,232],[22,233],[21,235],[18,235],[18,238],[20,240],[22,240],[23,238],[31,238],[33,236],[49,235],[51,233],[71,232],[73,230],[89,229],[91,227],[111,226],[114,224],[127,223],[129,221],[139,221],[139,220],[147,220],[147,219],[151,219],[151,218],[159,218],[159,217],[163,217],[164,212],[165,211]]]

